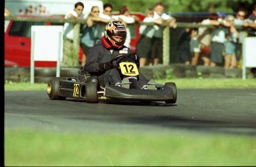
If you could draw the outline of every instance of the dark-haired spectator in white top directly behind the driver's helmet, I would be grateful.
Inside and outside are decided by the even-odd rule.
[[[113,15],[112,15],[112,11],[113,11],[113,6],[112,4],[104,4],[103,5],[103,12],[102,13],[99,13],[99,18],[104,18],[104,19],[107,19],[108,21],[114,21],[116,20],[115,18],[113,18]],[[96,43],[98,41],[101,40],[102,36],[104,35],[104,31],[105,31],[105,27],[106,27],[106,24],[105,22],[98,22],[98,26],[97,26],[97,39],[96,39]]]

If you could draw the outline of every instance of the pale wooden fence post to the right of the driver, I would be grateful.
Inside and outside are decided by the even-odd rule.
[[[170,27],[165,26],[163,29],[163,65],[170,62]]]

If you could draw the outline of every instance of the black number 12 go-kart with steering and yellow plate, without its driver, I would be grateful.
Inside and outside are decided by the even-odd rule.
[[[90,75],[84,68],[79,69],[79,75],[84,78],[51,78],[47,83],[47,95],[51,100],[66,98],[85,99],[87,103],[98,103],[99,100],[130,100],[130,101],[164,101],[176,103],[177,87],[173,82],[154,84],[154,89],[140,89],[137,81],[139,70],[131,55],[118,55],[111,62],[116,64],[119,74],[128,78],[129,88],[109,85],[99,86],[96,76]]]

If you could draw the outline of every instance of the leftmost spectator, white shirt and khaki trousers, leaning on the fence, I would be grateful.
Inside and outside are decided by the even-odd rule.
[[[65,15],[65,19],[68,18],[83,18],[82,11],[84,10],[84,4],[82,2],[77,2],[74,5],[74,9]],[[79,66],[79,60],[74,54],[75,50],[73,50],[73,24],[65,22],[64,24],[64,47],[63,47],[63,61],[62,67],[77,67]],[[85,57],[83,58],[85,61]],[[84,62],[85,63],[85,62]]]

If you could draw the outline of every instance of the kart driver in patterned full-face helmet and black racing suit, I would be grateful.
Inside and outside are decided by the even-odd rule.
[[[116,85],[128,88],[128,78],[122,78],[116,69],[115,62],[111,62],[117,55],[131,54],[137,67],[140,67],[140,58],[136,54],[132,54],[131,49],[124,45],[126,35],[124,24],[119,21],[111,21],[106,25],[101,41],[88,50],[85,70],[91,75],[96,75],[102,87]],[[140,88],[145,89],[148,85],[145,76],[139,74],[137,79]]]

